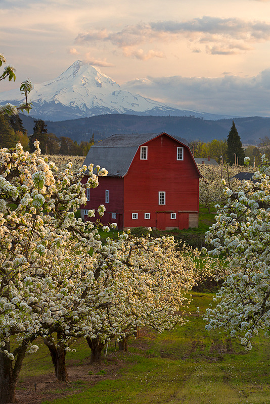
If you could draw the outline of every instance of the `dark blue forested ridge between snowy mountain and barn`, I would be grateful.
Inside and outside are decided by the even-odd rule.
[[[20,115],[28,135],[33,133],[34,120],[30,116]],[[270,118],[235,118],[236,128],[242,143],[259,142],[264,136],[270,137]],[[154,117],[137,115],[99,115],[68,121],[46,121],[48,132],[56,136],[67,136],[78,143],[89,141],[93,133],[95,140],[105,139],[114,133],[158,133],[167,132],[184,141],[227,138],[232,119],[209,121],[193,117]]]

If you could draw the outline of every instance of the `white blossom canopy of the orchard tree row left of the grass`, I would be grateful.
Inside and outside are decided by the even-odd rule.
[[[41,157],[38,142],[35,147],[32,154],[21,144],[0,149],[4,357],[17,361],[26,347],[34,352],[38,335],[54,343],[55,331],[66,351],[73,336],[104,343],[142,325],[162,331],[183,324],[195,284],[192,258],[176,250],[173,237],[136,238],[127,231],[102,245],[93,223],[74,212],[86,202],[85,170],[96,175],[92,187],[107,171],[97,167],[94,174],[90,165],[74,172],[71,163],[58,169]]]

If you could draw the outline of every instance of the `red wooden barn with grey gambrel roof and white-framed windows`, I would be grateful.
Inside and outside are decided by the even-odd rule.
[[[109,174],[86,192],[87,210],[104,205],[104,224],[118,229],[144,226],[162,230],[198,227],[199,178],[190,148],[167,133],[112,135],[93,145],[84,164]],[[87,176],[83,178],[83,183]]]

